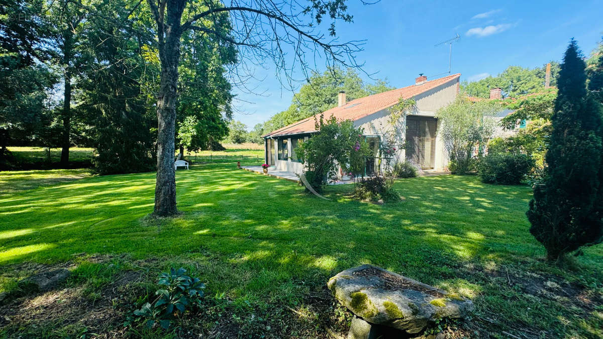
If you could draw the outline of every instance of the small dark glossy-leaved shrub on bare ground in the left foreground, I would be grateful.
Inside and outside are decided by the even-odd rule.
[[[155,323],[167,329],[172,320],[186,311],[187,306],[199,306],[203,297],[203,284],[198,278],[185,275],[186,270],[169,269],[169,273],[160,274],[160,289],[155,293],[157,298],[153,303],[145,303],[142,308],[134,311],[139,319],[146,319],[148,328]]]

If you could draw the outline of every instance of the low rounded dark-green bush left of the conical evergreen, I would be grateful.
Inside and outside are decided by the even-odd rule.
[[[482,182],[497,185],[519,185],[534,166],[526,154],[489,154],[479,162]]]

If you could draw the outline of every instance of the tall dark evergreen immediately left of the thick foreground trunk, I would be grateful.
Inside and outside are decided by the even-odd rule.
[[[106,8],[115,17],[128,13],[125,7]],[[137,38],[103,17],[86,24],[87,54],[93,59],[84,67],[80,100],[81,115],[93,126],[94,169],[100,174],[151,171],[156,121],[147,114]]]

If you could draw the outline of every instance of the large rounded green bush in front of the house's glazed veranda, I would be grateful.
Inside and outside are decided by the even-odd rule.
[[[345,173],[362,173],[370,154],[362,128],[354,127],[352,120],[339,122],[334,116],[327,121],[321,116],[316,124],[318,133],[295,148],[312,188],[320,191],[327,178],[337,175],[338,165]]]

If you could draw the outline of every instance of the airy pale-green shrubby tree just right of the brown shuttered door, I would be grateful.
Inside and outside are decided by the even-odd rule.
[[[452,104],[442,107],[436,113],[441,121],[440,133],[444,147],[450,156],[449,170],[452,173],[469,174],[473,166],[473,154],[484,151],[484,143],[494,131],[494,113],[500,105],[493,101],[472,102],[464,95],[458,95]]]

